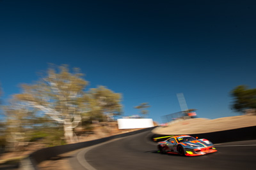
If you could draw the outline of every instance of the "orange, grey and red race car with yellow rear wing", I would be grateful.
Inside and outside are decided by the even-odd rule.
[[[157,148],[161,153],[173,153],[186,156],[199,156],[217,152],[211,141],[207,139],[196,139],[189,135],[172,136],[165,141],[157,143]]]

